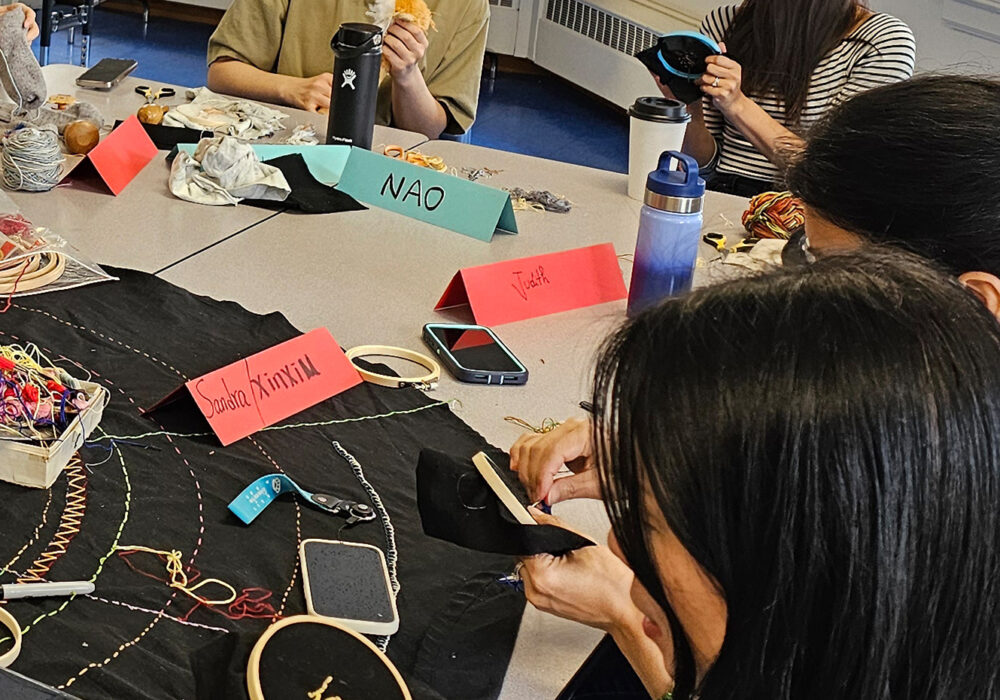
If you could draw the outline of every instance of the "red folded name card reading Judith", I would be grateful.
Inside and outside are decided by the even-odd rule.
[[[459,270],[435,310],[468,305],[495,326],[627,296],[610,243]]]

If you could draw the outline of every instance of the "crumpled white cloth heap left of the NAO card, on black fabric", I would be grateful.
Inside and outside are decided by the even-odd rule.
[[[244,199],[283,202],[292,191],[280,170],[261,163],[250,144],[231,136],[202,139],[194,155],[178,153],[169,184],[174,196],[213,206]]]

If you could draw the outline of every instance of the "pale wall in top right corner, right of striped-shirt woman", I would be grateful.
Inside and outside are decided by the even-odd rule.
[[[998,0],[872,0],[870,6],[899,17],[913,29],[918,71],[1000,74]],[[970,29],[954,28],[945,15]],[[995,40],[976,36],[973,31],[992,35]]]

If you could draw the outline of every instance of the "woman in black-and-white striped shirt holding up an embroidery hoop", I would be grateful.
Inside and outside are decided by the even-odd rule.
[[[684,150],[723,192],[773,189],[782,151],[829,109],[913,74],[910,28],[859,0],[745,0],[713,10],[701,30],[724,55],[698,80],[705,98],[688,105]]]

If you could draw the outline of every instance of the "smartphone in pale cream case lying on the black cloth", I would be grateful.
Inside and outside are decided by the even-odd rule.
[[[385,555],[369,544],[304,540],[299,547],[306,608],[360,634],[399,629]]]

